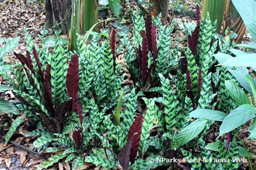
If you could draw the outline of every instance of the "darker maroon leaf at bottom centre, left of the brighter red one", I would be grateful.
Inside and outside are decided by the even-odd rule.
[[[134,136],[133,136],[134,137]],[[127,170],[129,166],[130,161],[130,155],[131,155],[131,148],[133,143],[133,137],[130,141],[128,141],[123,148],[120,149],[120,154],[118,156],[118,161],[120,165],[122,166],[123,170]]]

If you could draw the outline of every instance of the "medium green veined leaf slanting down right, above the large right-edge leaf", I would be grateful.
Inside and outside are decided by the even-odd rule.
[[[251,104],[246,93],[233,81],[225,81],[225,86],[238,106]]]

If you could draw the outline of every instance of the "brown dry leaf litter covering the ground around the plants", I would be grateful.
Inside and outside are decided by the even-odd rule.
[[[191,1],[186,1],[188,10],[195,10],[196,4]],[[135,10],[136,5],[130,4],[131,10]],[[12,39],[14,37],[20,36],[19,45],[14,48],[14,52],[17,54],[26,54],[26,44],[25,44],[25,32],[24,27],[27,28],[28,32],[33,35],[33,41],[39,47],[41,46],[41,37],[42,31],[44,30],[45,26],[45,7],[44,4],[40,1],[25,1],[25,0],[18,0],[18,1],[2,1],[0,2],[0,39]],[[110,12],[111,13],[111,12]],[[124,17],[125,18],[125,17]],[[177,14],[175,16],[176,20],[178,21],[194,21],[195,18],[184,16],[184,14]],[[128,28],[133,28],[132,20],[129,18],[126,19],[126,26]],[[168,25],[168,24],[167,24]],[[115,20],[112,20],[106,23],[106,28],[112,29],[122,29],[117,27],[117,23]],[[47,29],[48,32],[46,36],[54,35],[54,29],[50,28]],[[67,38],[67,35],[60,34],[60,37]],[[245,40],[250,40],[248,35],[245,35]],[[175,24],[175,29],[172,32],[172,45],[176,46],[180,44],[182,46],[186,46],[187,42],[185,40],[185,31],[183,30],[182,25]],[[51,41],[49,40],[49,42]],[[5,44],[0,44],[0,48]],[[123,55],[120,54],[118,56],[118,63],[124,64]],[[10,52],[5,57],[5,62],[9,64],[14,64],[17,60],[14,58],[14,53]],[[121,71],[125,74],[125,79],[123,80],[122,85],[131,85],[132,80],[131,76],[127,73],[126,70]],[[12,75],[13,76],[13,75]],[[7,81],[0,76],[0,83],[4,85],[8,85]],[[0,91],[0,97],[12,102],[15,104],[16,98],[12,93],[12,90],[8,90],[6,92]],[[142,100],[141,100],[142,101]],[[137,112],[142,112],[144,108],[144,103],[138,102]],[[160,108],[163,106],[159,106]],[[124,108],[122,108],[124,110]],[[0,113],[0,168],[10,169],[10,170],[19,170],[19,169],[35,169],[39,166],[40,163],[44,162],[48,159],[51,154],[44,154],[39,155],[36,151],[32,150],[32,143],[35,141],[35,137],[26,137],[26,134],[35,130],[36,125],[35,122],[31,119],[23,120],[22,124],[18,127],[14,135],[11,137],[10,142],[5,144],[4,137],[11,126],[11,123],[14,121],[16,115],[14,114],[5,114]],[[214,142],[215,138],[218,136],[216,131],[218,131],[219,125],[212,126],[207,133],[206,142]],[[247,138],[247,131],[249,128],[249,124],[245,124],[244,127],[238,133],[241,137],[241,140],[244,140],[246,143],[246,148],[250,151],[253,155],[256,154],[256,141],[255,140],[248,140]],[[151,133],[157,133],[157,127],[153,127]],[[197,150],[195,151],[197,152]],[[198,151],[199,152],[199,151]],[[253,159],[253,167],[255,168],[255,160]],[[245,167],[243,169],[248,169],[248,162],[241,164],[241,167]],[[246,168],[247,167],[247,168]],[[98,169],[94,166],[94,164],[83,164],[82,169]],[[162,167],[161,167],[162,168]],[[159,169],[161,169],[159,168]],[[2,170],[1,169],[1,170]],[[71,163],[69,162],[58,162],[50,169],[71,169]],[[166,169],[166,168],[165,168]]]

